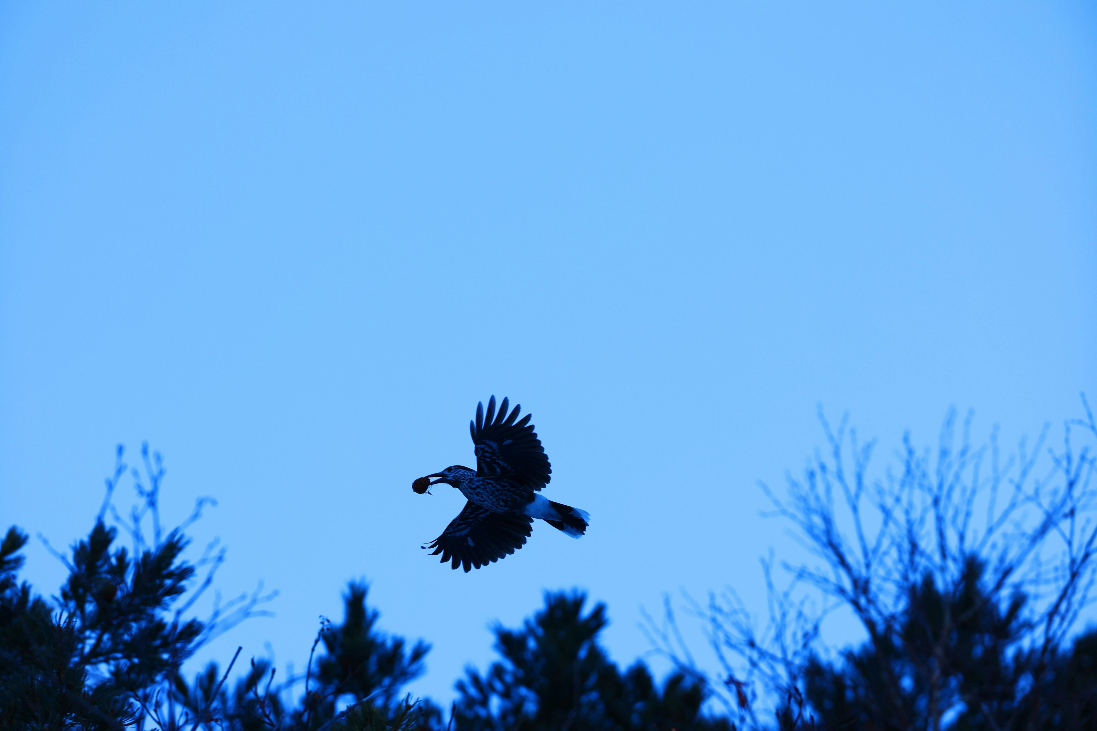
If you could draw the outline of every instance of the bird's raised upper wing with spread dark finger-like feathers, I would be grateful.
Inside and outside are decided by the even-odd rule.
[[[476,475],[501,476],[530,490],[540,490],[552,479],[552,466],[530,423],[532,414],[518,419],[522,407],[516,406],[509,414],[507,407],[504,399],[496,413],[494,396],[487,402],[487,414],[483,402],[476,404],[476,420],[468,424],[476,445]]]

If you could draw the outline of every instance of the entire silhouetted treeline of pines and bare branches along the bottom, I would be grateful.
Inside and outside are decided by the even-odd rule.
[[[950,416],[936,450],[907,439],[875,478],[872,444],[824,421],[829,453],[790,478],[787,499],[771,494],[816,562],[764,561],[760,633],[731,590],[691,607],[723,662],[719,681],[689,660],[669,601],[667,623],[649,623],[677,661],[660,685],[600,647],[604,605],[585,612],[581,593],[547,594],[522,627],[496,628],[500,659],[459,681],[449,719],[403,695],[429,647],[382,632],[364,584],[350,585],[341,624],[321,623],[303,674],[279,678],[237,650],[224,671],[211,663],[188,681],[183,663],[272,595],[216,598],[195,617],[225,550],[214,541],[186,558],[185,529],[212,501],[161,529],[163,467],[146,448],[132,472],[137,505],[121,515],[120,449],[91,532],[55,551],[68,569],[56,598],[19,581],[26,536],[11,528],[0,541],[0,730],[1097,729],[1097,630],[1074,629],[1097,581],[1097,421],[1086,416],[1066,424],[1061,448],[1041,435],[1005,459],[993,437],[972,446],[966,423],[957,445]],[[790,575],[780,591],[774,566]],[[863,643],[821,642],[836,607],[860,623]],[[727,717],[703,710],[712,698]]]

